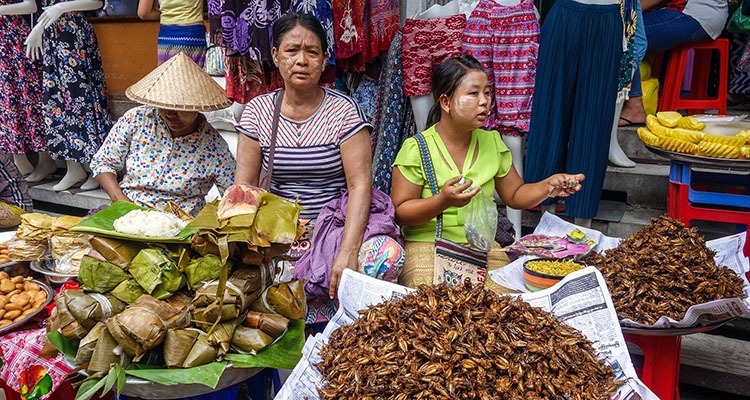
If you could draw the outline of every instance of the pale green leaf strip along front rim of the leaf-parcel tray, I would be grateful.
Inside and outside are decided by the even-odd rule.
[[[136,369],[130,369],[129,367],[125,373],[161,385],[169,386],[199,383],[213,389],[219,384],[219,378],[221,378],[221,374],[224,373],[224,367],[226,367],[226,365],[227,363],[222,361],[185,369],[141,369],[138,367],[136,367]]]

